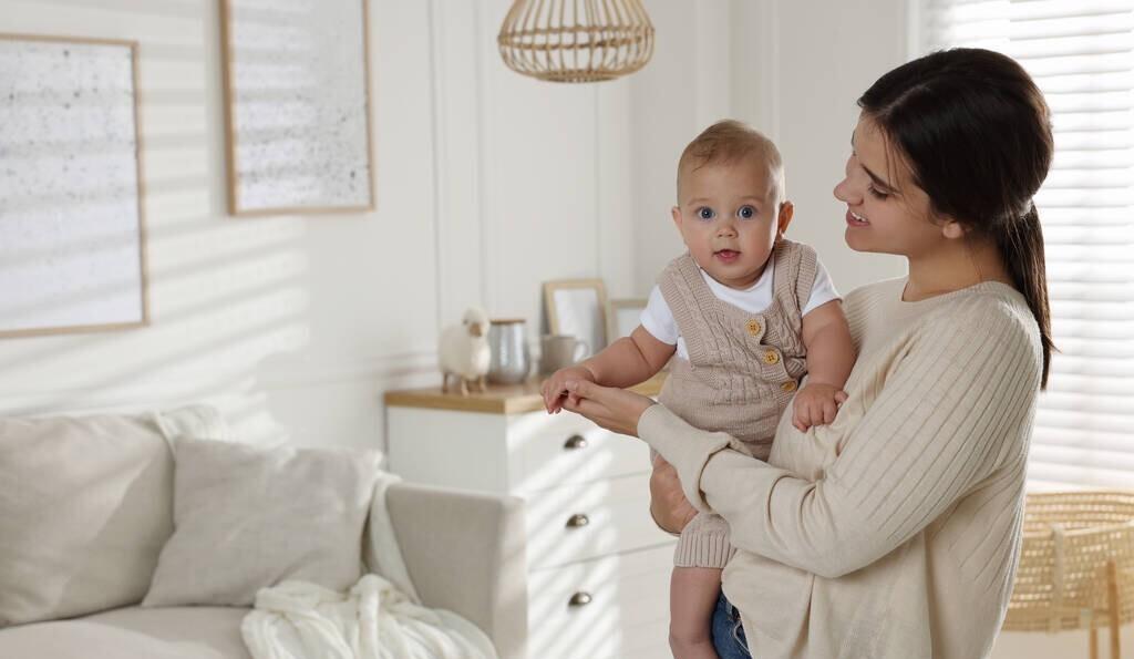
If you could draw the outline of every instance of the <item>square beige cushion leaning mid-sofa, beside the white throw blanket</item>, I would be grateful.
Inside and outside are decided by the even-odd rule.
[[[346,590],[380,454],[178,438],[174,523],[143,606],[249,606],[295,578]]]

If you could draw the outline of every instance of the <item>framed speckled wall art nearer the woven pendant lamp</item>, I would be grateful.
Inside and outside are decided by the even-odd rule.
[[[374,209],[367,0],[221,0],[229,212]]]

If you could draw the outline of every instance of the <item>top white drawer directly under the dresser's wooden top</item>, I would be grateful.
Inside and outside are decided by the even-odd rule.
[[[562,412],[508,420],[508,451],[516,456],[509,487],[526,493],[650,471],[650,447]]]

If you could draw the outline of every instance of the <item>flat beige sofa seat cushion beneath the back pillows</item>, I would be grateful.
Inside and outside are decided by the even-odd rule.
[[[248,609],[129,607],[86,618],[0,630],[0,657],[42,659],[251,659]]]

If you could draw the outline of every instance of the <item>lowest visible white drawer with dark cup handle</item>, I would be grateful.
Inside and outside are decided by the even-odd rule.
[[[528,656],[668,657],[672,556],[670,542],[528,574]]]

